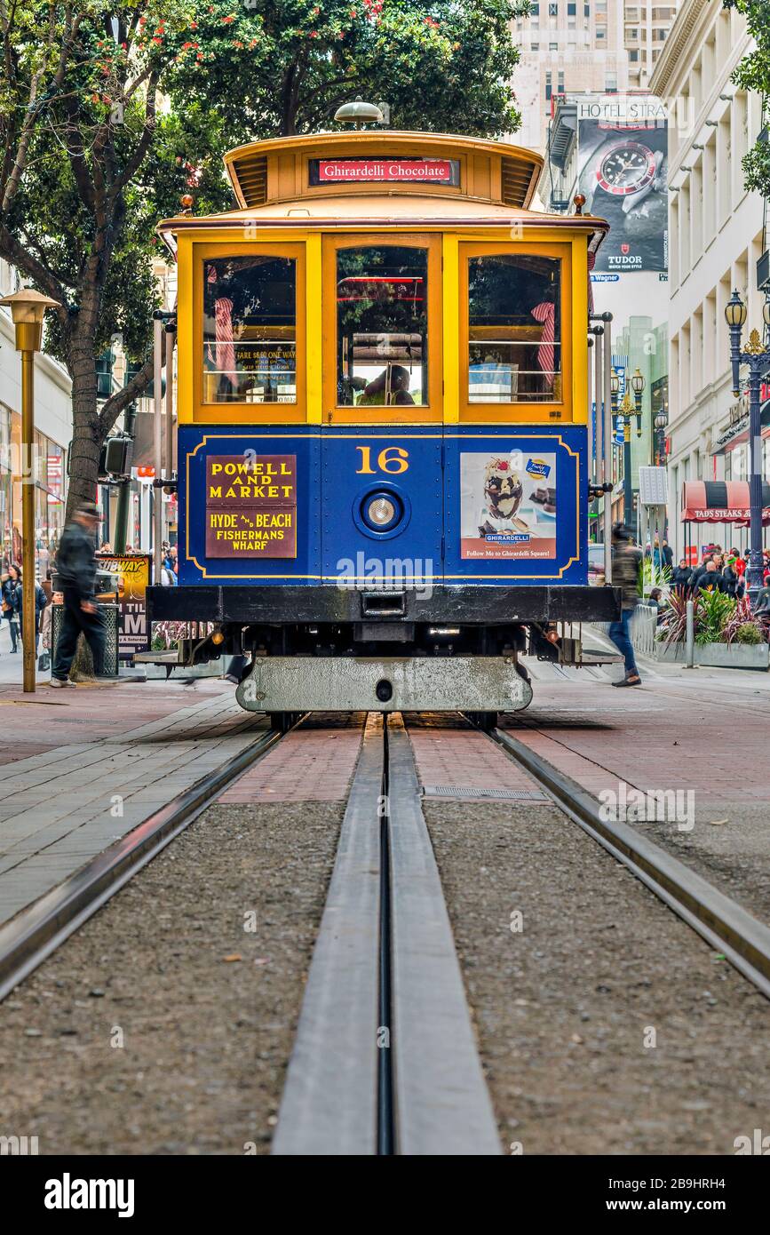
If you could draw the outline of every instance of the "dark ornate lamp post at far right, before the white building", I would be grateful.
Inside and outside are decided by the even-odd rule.
[[[747,567],[747,585],[754,604],[756,593],[763,585],[763,475],[761,475],[761,424],[759,406],[760,378],[770,366],[770,350],[763,346],[759,331],[753,330],[745,347],[740,346],[740,333],[748,316],[747,306],[738,295],[733,295],[724,309],[731,335],[731,361],[733,366],[733,394],[740,394],[740,366],[749,368],[749,508],[750,508],[750,552]],[[765,329],[770,327],[770,300],[763,306]]]

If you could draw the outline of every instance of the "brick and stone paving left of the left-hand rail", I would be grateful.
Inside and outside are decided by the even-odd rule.
[[[254,740],[232,685],[0,693],[0,923]],[[12,709],[12,711],[11,711]]]

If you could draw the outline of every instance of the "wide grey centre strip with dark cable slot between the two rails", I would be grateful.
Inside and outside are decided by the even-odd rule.
[[[364,726],[271,1152],[501,1152],[399,714]]]

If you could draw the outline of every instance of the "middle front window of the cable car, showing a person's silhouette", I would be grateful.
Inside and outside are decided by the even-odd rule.
[[[337,252],[337,405],[428,404],[428,251]]]

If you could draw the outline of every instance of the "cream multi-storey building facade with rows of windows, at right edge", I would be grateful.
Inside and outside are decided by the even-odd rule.
[[[748,477],[747,409],[732,394],[724,306],[737,288],[747,329],[761,331],[764,201],[747,193],[740,165],[763,125],[761,99],[731,82],[750,46],[735,10],[682,0],[650,82],[669,111],[669,538],[677,556],[713,540],[743,548],[748,536],[690,524],[685,545],[681,489]],[[769,414],[770,403],[763,419]],[[765,442],[765,475],[768,453]]]

